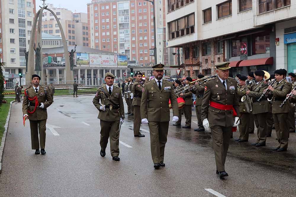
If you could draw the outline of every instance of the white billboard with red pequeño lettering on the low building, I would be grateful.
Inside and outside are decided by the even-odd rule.
[[[117,55],[89,54],[90,65],[117,66]]]

